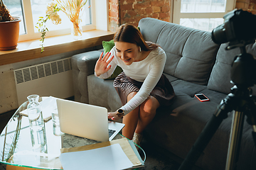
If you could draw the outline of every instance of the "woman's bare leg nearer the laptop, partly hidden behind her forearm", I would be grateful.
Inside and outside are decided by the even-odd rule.
[[[127,96],[127,101],[130,101],[137,92],[132,92]],[[127,137],[129,140],[132,140],[132,137],[134,135],[134,131],[137,127],[139,119],[139,107],[135,108],[133,111],[131,111],[129,114],[125,115],[122,123],[125,124],[124,128],[122,129],[122,135]]]

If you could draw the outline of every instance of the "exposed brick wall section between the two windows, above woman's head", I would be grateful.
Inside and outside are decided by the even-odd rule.
[[[139,20],[150,17],[170,21],[171,0],[109,0],[110,30],[123,23],[138,26]]]

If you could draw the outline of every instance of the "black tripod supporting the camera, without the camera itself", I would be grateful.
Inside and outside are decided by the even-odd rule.
[[[242,45],[240,50],[241,55],[235,57],[231,67],[231,82],[235,86],[231,89],[231,93],[221,101],[213,117],[206,124],[178,170],[192,168],[220,126],[220,123],[225,118],[228,118],[230,111],[235,111],[235,113],[233,115],[225,169],[236,169],[245,115],[247,115],[247,123],[252,125],[252,137],[256,146],[256,99],[251,95],[252,90],[250,89],[250,86],[255,84],[256,60],[246,52],[245,45]]]

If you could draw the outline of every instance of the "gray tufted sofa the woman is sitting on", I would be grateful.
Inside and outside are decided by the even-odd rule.
[[[156,42],[165,50],[164,74],[171,81],[176,99],[169,108],[161,108],[144,131],[146,140],[184,159],[198,135],[212,117],[220,101],[230,93],[230,68],[239,48],[225,50],[227,44],[216,45],[211,33],[186,28],[174,23],[143,18],[139,27],[145,40]],[[104,106],[116,111],[121,106],[113,80],[94,76],[99,51],[72,57],[75,101]],[[256,44],[247,45],[247,52],[256,56]],[[255,73],[256,74],[256,73]],[[253,86],[253,95],[256,86]],[[203,93],[210,101],[201,102],[194,94]],[[232,112],[233,113],[233,112]],[[225,169],[232,113],[218,128],[196,165],[202,169]],[[256,150],[252,128],[245,121],[238,169],[256,169]]]

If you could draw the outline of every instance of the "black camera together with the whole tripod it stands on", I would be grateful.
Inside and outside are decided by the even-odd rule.
[[[223,18],[224,23],[213,29],[212,39],[216,44],[229,42],[225,50],[240,47],[241,54],[235,56],[230,69],[231,83],[234,86],[230,94],[220,102],[213,117],[206,124],[178,170],[192,168],[220,123],[228,118],[228,113],[231,111],[235,111],[235,113],[233,113],[233,123],[230,129],[225,170],[235,170],[238,167],[245,115],[247,115],[247,123],[252,125],[252,137],[256,146],[256,99],[255,96],[252,96],[252,89],[250,88],[256,84],[256,59],[247,53],[245,48],[246,45],[255,43],[256,16],[247,11],[235,9]],[[253,48],[256,48],[256,44],[253,45]]]

